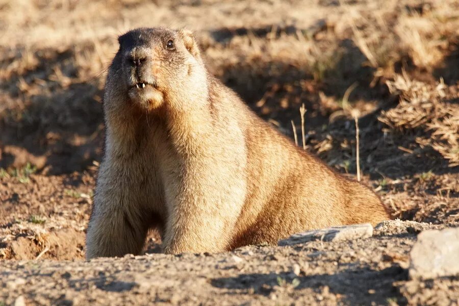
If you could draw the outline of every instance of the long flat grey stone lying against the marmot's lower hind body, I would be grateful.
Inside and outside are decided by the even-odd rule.
[[[343,241],[358,238],[367,238],[373,235],[373,227],[370,223],[328,227],[322,230],[309,231],[290,236],[280,240],[278,245],[295,245],[314,240]]]

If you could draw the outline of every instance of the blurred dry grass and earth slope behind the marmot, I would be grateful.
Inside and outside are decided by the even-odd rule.
[[[362,180],[393,217],[459,221],[457,0],[0,0],[0,258],[36,256],[38,225],[70,241],[45,257],[83,256],[106,69],[118,35],[157,26],[195,31],[209,70],[300,145],[304,105],[305,149],[350,177],[357,117]]]

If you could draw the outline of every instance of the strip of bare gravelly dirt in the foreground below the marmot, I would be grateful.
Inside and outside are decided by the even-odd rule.
[[[220,254],[4,261],[0,297],[43,305],[450,305],[459,299],[457,278],[407,281],[406,272],[416,234],[445,226],[386,221],[371,238]]]

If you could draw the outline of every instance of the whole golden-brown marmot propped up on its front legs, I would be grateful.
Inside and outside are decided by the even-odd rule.
[[[187,30],[119,37],[87,258],[218,252],[389,216],[378,197],[294,145],[207,71]]]

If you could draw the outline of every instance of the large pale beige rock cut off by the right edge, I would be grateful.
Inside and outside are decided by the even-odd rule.
[[[412,279],[459,275],[459,227],[422,232],[410,257]]]

